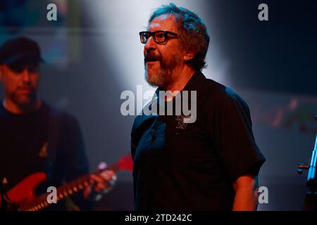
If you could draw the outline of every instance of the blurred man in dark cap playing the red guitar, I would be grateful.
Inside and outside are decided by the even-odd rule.
[[[48,178],[39,192],[46,191],[46,186],[58,187],[89,173],[82,132],[75,117],[37,96],[41,63],[39,46],[31,39],[11,39],[0,48],[0,82],[5,91],[0,105],[0,178],[8,181],[8,191],[36,172],[44,172]],[[112,171],[90,177],[92,184],[51,209],[92,209],[93,201],[108,191],[116,179]]]

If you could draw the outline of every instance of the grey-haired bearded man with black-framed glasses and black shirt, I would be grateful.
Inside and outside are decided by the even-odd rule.
[[[136,210],[256,210],[257,176],[265,158],[256,146],[247,103],[211,79],[206,67],[209,34],[192,11],[161,6],[149,18],[144,44],[145,78],[164,96],[156,96],[132,127]],[[189,98],[197,120],[166,113],[166,106]],[[155,97],[155,96],[154,96]],[[182,102],[184,105],[186,102]],[[182,108],[184,110],[184,108]],[[183,115],[184,114],[184,115]],[[192,115],[191,115],[192,116]]]

